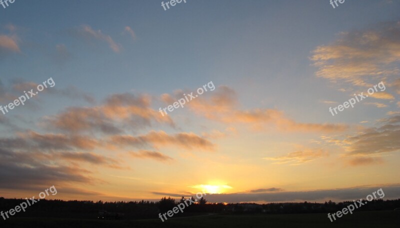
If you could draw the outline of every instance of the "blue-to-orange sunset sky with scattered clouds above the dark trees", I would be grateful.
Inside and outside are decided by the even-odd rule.
[[[400,197],[400,0],[161,2],[0,5],[0,196]]]

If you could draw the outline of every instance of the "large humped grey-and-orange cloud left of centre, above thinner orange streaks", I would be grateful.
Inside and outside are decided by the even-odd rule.
[[[108,96],[101,105],[92,107],[68,107],[63,112],[45,118],[50,128],[67,132],[96,132],[116,134],[125,128],[137,130],[152,123],[167,123],[174,126],[169,116],[150,107],[146,95],[120,93]]]

